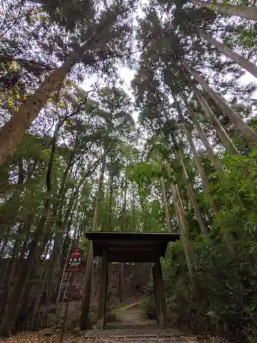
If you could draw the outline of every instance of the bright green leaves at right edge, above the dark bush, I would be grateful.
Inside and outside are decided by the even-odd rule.
[[[232,187],[224,187],[218,178],[212,183],[212,198],[219,199],[222,206],[217,224],[225,223],[240,239],[256,234],[256,214],[252,211],[256,204],[256,156],[255,149],[247,156],[226,155],[222,161]]]

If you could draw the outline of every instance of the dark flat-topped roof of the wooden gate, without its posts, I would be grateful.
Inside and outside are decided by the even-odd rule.
[[[154,262],[164,257],[170,241],[178,241],[178,233],[86,233],[93,241],[94,256],[107,251],[108,262]]]

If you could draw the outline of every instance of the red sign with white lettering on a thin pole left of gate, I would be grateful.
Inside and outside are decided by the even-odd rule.
[[[73,279],[74,279],[74,272],[79,272],[79,270],[81,270],[82,267],[82,252],[79,250],[79,248],[74,248],[73,250],[71,250],[71,252],[69,252],[68,255],[68,261],[66,263],[66,272],[69,272],[69,278],[68,278],[68,283],[69,283],[69,279],[71,276],[71,283],[70,285],[67,285],[68,289],[67,289],[67,301],[66,301],[66,307],[65,307],[65,311],[64,311],[64,320],[63,320],[63,324],[62,324],[62,330],[60,332],[60,340],[59,342],[62,343],[62,338],[64,335],[64,329],[65,329],[65,325],[66,325],[66,319],[67,319],[67,314],[68,314],[68,309],[69,309],[69,290],[73,284]],[[65,294],[64,294],[65,296]],[[64,300],[64,298],[63,298]],[[62,302],[63,302],[62,300]]]

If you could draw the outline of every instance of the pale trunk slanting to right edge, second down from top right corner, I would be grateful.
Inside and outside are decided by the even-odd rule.
[[[206,39],[208,43],[214,45],[219,51],[223,52],[225,56],[227,56],[234,62],[238,63],[243,69],[245,69],[250,74],[252,74],[255,78],[257,78],[257,66],[253,62],[237,54],[236,51],[230,49],[223,43],[219,42],[219,40],[213,38],[212,36],[210,36],[210,34],[207,34],[206,32],[204,32],[204,30],[201,29],[200,27],[195,27],[195,30],[197,31],[199,36]]]

